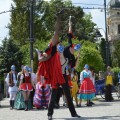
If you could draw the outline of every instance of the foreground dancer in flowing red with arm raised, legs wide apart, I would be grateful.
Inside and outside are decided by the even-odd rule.
[[[46,69],[43,71],[43,74],[46,76],[46,82],[50,83],[51,88],[52,88],[51,98],[50,98],[50,102],[49,102],[49,106],[48,106],[48,120],[52,120],[54,103],[55,103],[55,98],[56,98],[57,89],[58,89],[59,85],[62,86],[64,93],[66,95],[66,98],[68,101],[68,108],[70,110],[71,116],[72,117],[80,117],[76,113],[72,99],[71,99],[69,86],[68,86],[68,83],[66,82],[67,77],[66,77],[66,75],[63,75],[65,66],[61,67],[61,65],[66,61],[65,57],[63,55],[63,52],[62,52],[62,54],[60,54],[60,52],[56,51],[56,50],[59,51],[59,49],[57,49],[57,46],[56,46],[59,41],[59,38],[58,38],[59,37],[59,27],[60,27],[59,25],[60,25],[60,15],[57,17],[57,22],[55,25],[55,33],[52,38],[50,48],[47,51],[47,57],[41,58],[39,60],[40,64],[39,64],[38,71],[37,71],[37,75],[39,76],[39,74],[42,73],[41,69],[40,69],[40,65],[42,64],[43,61],[45,61],[43,67],[44,67],[44,69],[45,68]],[[61,49],[61,47],[60,47],[60,49]],[[46,70],[47,70],[47,74],[46,74]]]

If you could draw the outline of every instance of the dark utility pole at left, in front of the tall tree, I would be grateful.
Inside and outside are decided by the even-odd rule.
[[[30,65],[33,68],[33,17],[34,17],[34,0],[30,0]]]

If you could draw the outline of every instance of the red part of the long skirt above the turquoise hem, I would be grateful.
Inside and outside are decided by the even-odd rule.
[[[95,87],[93,85],[92,80],[90,80],[90,78],[85,78],[82,81],[79,93],[80,94],[92,94],[92,93],[95,93]]]

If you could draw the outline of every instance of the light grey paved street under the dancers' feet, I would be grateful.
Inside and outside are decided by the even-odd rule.
[[[86,107],[85,102],[81,108],[76,108],[77,113],[81,115],[80,120],[120,120],[120,99],[114,95],[113,102],[105,102],[103,99],[94,100],[95,105]],[[62,106],[62,100],[61,100]],[[72,118],[69,110],[65,107],[55,109],[54,120],[78,120]],[[0,120],[47,120],[47,110],[10,110],[8,98],[1,101]]]

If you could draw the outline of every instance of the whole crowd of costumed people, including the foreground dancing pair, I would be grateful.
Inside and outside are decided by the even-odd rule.
[[[72,43],[72,22],[69,17],[68,45],[64,46],[59,41],[61,13],[57,14],[55,32],[48,48],[38,53],[38,69],[33,73],[31,67],[21,66],[17,74],[15,65],[5,79],[8,84],[10,109],[24,109],[28,111],[33,107],[48,109],[48,120],[52,120],[54,108],[60,108],[60,98],[63,97],[64,106],[69,108],[72,117],[80,117],[75,110],[81,107],[82,100],[86,100],[86,106],[92,106],[95,97],[95,74],[85,64],[79,75],[75,69],[77,58],[75,51],[79,51],[80,44]],[[111,84],[113,74],[106,72],[106,100],[112,100]],[[110,98],[109,98],[110,97]]]

